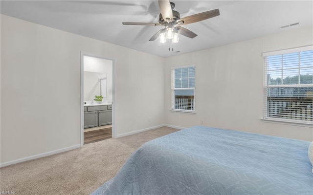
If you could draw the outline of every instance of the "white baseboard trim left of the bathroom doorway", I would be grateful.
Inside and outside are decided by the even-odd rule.
[[[55,155],[55,154],[58,154],[58,153],[66,152],[66,151],[69,151],[69,150],[74,150],[74,149],[80,148],[80,147],[81,147],[80,144],[78,144],[78,145],[70,146],[70,147],[67,147],[67,148],[62,148],[62,149],[59,149],[59,150],[54,150],[54,151],[51,151],[51,152],[42,153],[42,154],[39,154],[39,155],[28,156],[28,157],[20,158],[20,159],[17,159],[17,160],[12,160],[12,161],[9,161],[9,162],[1,163],[0,167],[6,167],[6,166],[9,166],[9,165],[17,164],[17,163],[28,161],[28,160],[33,160],[33,159],[37,159],[37,158],[41,158],[41,157],[45,157],[45,156],[51,156],[51,155]]]

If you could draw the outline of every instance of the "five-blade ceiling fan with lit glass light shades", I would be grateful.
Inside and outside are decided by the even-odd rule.
[[[160,7],[160,15],[158,23],[148,23],[148,22],[122,22],[124,25],[149,25],[149,26],[165,26],[165,28],[156,32],[149,41],[156,40],[160,38],[160,42],[166,42],[166,39],[172,39],[173,43],[179,41],[178,35],[183,35],[188,38],[195,38],[197,34],[182,27],[181,25],[191,24],[202,20],[207,20],[220,15],[219,9],[214,9],[199,14],[187,16],[180,18],[178,11],[173,10],[175,3],[169,0],[158,0],[158,5]]]

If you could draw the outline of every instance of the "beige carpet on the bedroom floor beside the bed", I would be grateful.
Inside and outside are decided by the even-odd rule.
[[[89,195],[116,175],[143,143],[178,131],[161,127],[107,139],[0,169],[0,190],[16,195]]]

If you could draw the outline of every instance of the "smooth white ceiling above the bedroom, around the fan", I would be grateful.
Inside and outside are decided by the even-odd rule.
[[[180,18],[220,9],[220,16],[183,27],[198,34],[179,36],[179,43],[148,41],[159,26],[122,22],[158,22],[157,0],[1,0],[1,14],[161,57],[199,51],[273,33],[313,26],[313,1],[171,0]],[[299,22],[287,28],[288,24]],[[171,47],[172,48],[172,47]],[[179,52],[178,52],[179,51]]]

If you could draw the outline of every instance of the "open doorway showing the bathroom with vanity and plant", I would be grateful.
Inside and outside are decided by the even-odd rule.
[[[81,53],[81,145],[112,138],[114,60]]]

